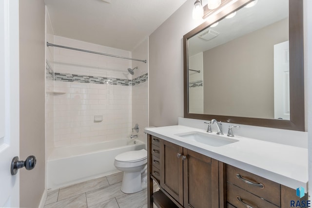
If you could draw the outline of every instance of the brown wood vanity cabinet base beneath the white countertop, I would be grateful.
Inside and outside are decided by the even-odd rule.
[[[148,207],[290,208],[296,190],[148,135]],[[153,192],[153,180],[160,190]],[[249,207],[248,207],[249,206]]]

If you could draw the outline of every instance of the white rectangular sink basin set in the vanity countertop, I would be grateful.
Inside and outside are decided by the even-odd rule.
[[[186,132],[178,133],[176,135],[214,147],[221,147],[227,144],[238,142],[236,139],[221,137],[219,135],[212,135],[203,132]]]

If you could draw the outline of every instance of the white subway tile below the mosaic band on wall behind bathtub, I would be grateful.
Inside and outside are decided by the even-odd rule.
[[[130,136],[130,86],[55,81],[55,90],[66,92],[55,96],[56,147]]]

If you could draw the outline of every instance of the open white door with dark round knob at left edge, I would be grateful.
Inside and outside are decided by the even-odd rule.
[[[19,0],[0,0],[0,207],[20,206]]]

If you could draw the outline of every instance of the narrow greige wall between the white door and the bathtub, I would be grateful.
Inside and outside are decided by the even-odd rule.
[[[20,207],[36,208],[45,191],[44,77],[45,6],[20,0],[20,159],[37,157],[33,170],[20,170]]]

